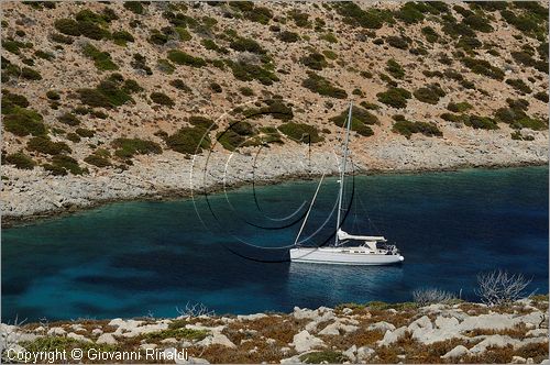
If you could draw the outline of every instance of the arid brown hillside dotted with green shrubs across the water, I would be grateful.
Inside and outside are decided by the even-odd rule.
[[[1,5],[4,217],[334,172],[349,99],[363,168],[548,161],[542,2]]]

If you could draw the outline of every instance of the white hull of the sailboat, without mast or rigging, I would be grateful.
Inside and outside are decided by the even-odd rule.
[[[290,262],[330,265],[392,265],[405,258],[399,254],[371,253],[364,247],[297,247]]]

